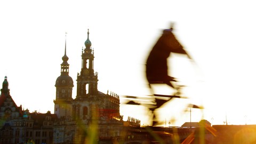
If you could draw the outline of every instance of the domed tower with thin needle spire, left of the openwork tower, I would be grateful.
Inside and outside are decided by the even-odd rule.
[[[66,39],[65,39],[65,54],[62,57],[61,74],[57,78],[56,87],[56,99],[54,102],[54,114],[57,114],[58,118],[62,116],[71,116],[72,114],[72,89],[74,87],[73,79],[68,75],[69,64],[68,57],[66,55]]]

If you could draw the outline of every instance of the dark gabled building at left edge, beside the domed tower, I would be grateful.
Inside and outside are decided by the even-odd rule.
[[[53,124],[55,114],[29,113],[17,106],[10,95],[9,83],[5,76],[0,95],[0,143],[53,142]]]

